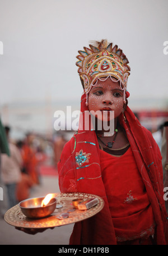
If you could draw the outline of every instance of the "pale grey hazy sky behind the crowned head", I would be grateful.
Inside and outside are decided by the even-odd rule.
[[[131,98],[168,95],[167,0],[0,0],[0,104],[80,99],[75,65],[90,40],[123,49]]]

